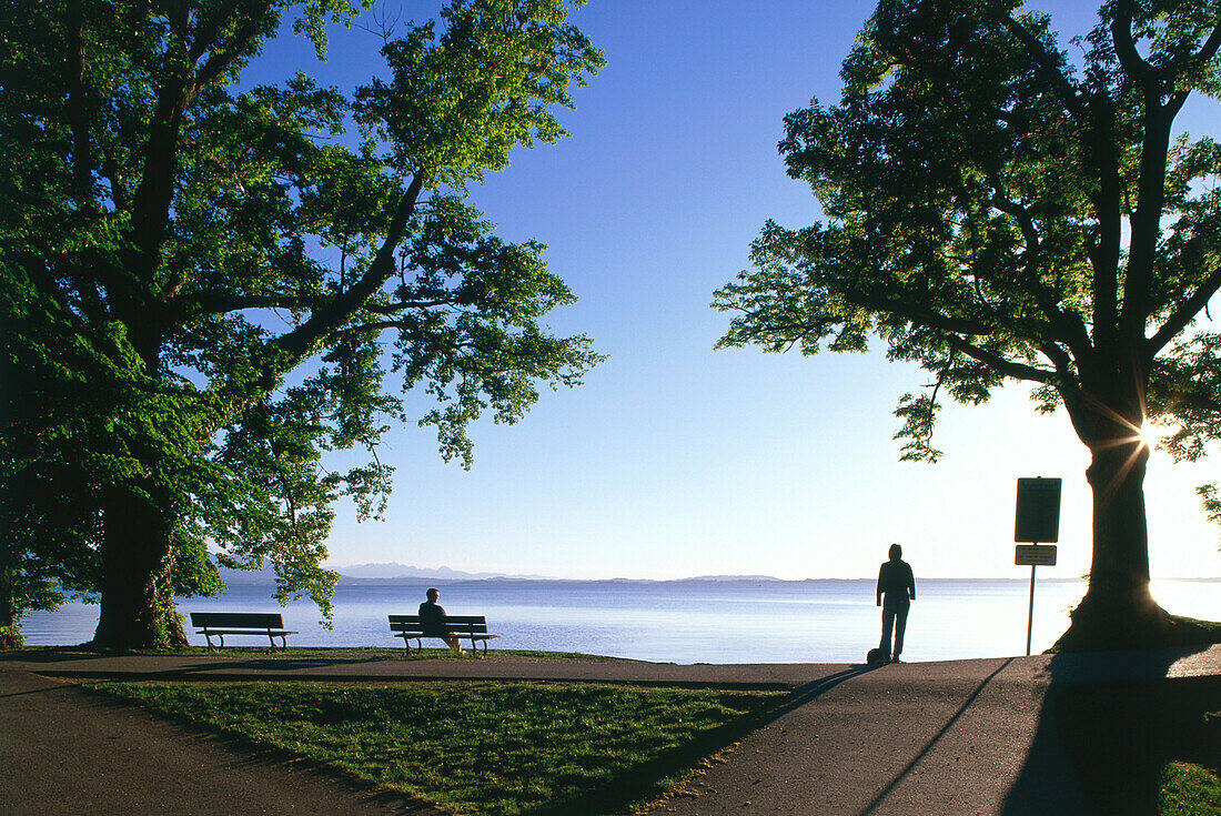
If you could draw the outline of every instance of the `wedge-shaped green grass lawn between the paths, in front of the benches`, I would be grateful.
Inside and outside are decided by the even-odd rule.
[[[559,683],[92,688],[488,816],[631,812],[786,696]]]

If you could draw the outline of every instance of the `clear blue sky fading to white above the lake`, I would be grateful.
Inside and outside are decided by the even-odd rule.
[[[407,18],[431,4],[398,5]],[[1073,33],[1095,9],[1051,6],[1056,28]],[[1022,578],[1015,480],[1043,475],[1063,478],[1065,503],[1060,566],[1040,575],[1088,570],[1085,450],[1062,413],[1035,415],[1023,387],[983,408],[947,407],[943,462],[917,465],[897,462],[891,410],[927,381],[918,369],[880,351],[713,351],[729,318],[709,308],[712,293],[747,266],[763,222],[818,217],[777,154],[781,118],[812,97],[839,98],[840,62],[872,7],[592,0],[575,15],[608,66],[564,114],[571,138],[518,150],[471,202],[503,237],[548,244],[551,269],[580,297],[549,325],[590,335],[608,360],[585,386],[545,392],[515,426],[476,425],[470,472],[442,463],[427,429],[394,430],[381,451],[397,467],[388,518],[341,514],[332,566],[860,578],[899,541],[918,575]],[[277,43],[261,70],[305,67],[350,87],[377,70],[377,45],[338,29],[326,66]],[[1216,134],[1217,120],[1216,103],[1183,118],[1195,134]],[[1155,575],[1221,577],[1217,530],[1192,490],[1216,476],[1214,462],[1155,454]]]

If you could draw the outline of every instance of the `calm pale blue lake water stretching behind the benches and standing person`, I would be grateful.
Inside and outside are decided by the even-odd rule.
[[[283,612],[298,646],[396,646],[386,616],[414,613],[424,590],[441,589],[451,614],[485,614],[493,649],[582,651],[675,663],[860,662],[880,630],[873,580],[810,581],[463,581],[344,579],[335,628],[309,602],[272,601],[266,586],[233,585],[216,599],[179,599],[183,613]],[[1029,580],[919,580],[904,657],[911,661],[1026,652]],[[1085,591],[1079,580],[1040,580],[1032,650],[1050,646]],[[1154,595],[1175,614],[1221,621],[1221,580],[1158,580]],[[89,640],[98,607],[68,603],[22,623],[31,645]],[[188,630],[193,644],[201,635]],[[234,644],[254,644],[250,638]],[[437,643],[440,645],[440,643]]]

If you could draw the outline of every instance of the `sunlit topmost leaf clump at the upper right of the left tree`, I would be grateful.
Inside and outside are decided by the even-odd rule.
[[[552,110],[602,56],[565,24],[567,0],[455,0],[447,26],[414,27],[382,54],[388,82],[357,93],[358,120],[392,145],[387,165],[463,187],[501,170],[509,150],[564,136]],[[477,123],[477,125],[476,125]]]

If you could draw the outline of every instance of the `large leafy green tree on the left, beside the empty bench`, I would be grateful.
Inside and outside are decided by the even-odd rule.
[[[289,22],[321,59],[347,0],[2,1],[0,624],[68,591],[100,597],[99,646],[183,643],[210,552],[328,613],[333,506],[382,511],[387,423],[469,465],[470,421],[580,381],[600,358],[540,325],[574,299],[543,247],[465,199],[564,136],[603,64],[581,2],[451,0],[344,95],[239,81]]]

